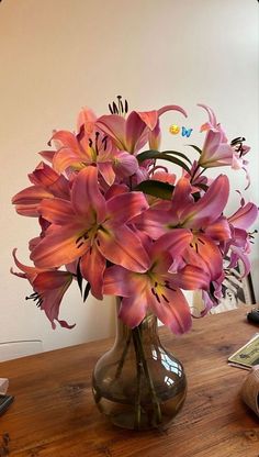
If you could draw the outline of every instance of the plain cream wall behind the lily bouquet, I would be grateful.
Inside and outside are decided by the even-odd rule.
[[[72,331],[53,332],[44,313],[24,301],[27,283],[9,274],[11,250],[27,261],[35,220],[18,216],[11,197],[27,186],[53,129],[70,129],[88,104],[101,114],[123,94],[132,109],[178,103],[194,129],[213,107],[229,137],[245,135],[252,146],[251,187],[258,190],[258,2],[256,0],[3,0],[1,53],[1,328],[0,341],[42,338],[46,349],[112,332],[112,300],[80,302],[69,291],[60,315]],[[173,118],[173,121],[181,121]],[[172,123],[165,116],[165,126]],[[200,140],[199,134],[193,141]],[[172,136],[166,135],[170,147]],[[234,189],[245,188],[230,172]],[[238,197],[233,192],[230,209]],[[257,244],[258,246],[258,244]],[[259,297],[259,257],[252,253]]]

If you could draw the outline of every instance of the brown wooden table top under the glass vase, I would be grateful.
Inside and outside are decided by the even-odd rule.
[[[226,363],[258,331],[246,311],[195,320],[182,337],[160,330],[189,380],[167,432],[116,428],[97,410],[91,371],[109,339],[0,364],[15,395],[0,417],[0,457],[259,457],[259,421],[239,397],[247,371]]]

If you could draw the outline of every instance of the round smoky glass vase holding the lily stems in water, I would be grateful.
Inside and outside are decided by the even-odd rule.
[[[115,343],[92,376],[99,410],[113,424],[131,430],[165,428],[183,405],[183,367],[160,343],[157,317],[135,328],[117,320]]]

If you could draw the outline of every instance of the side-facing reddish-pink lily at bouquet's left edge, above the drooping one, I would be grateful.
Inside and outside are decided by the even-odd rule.
[[[59,176],[52,167],[43,161],[29,175],[33,186],[23,189],[12,198],[15,210],[21,215],[38,218],[38,204],[43,199],[69,199],[69,181]]]

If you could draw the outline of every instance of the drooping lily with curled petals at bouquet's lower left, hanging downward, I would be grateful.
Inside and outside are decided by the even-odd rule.
[[[27,279],[34,290],[30,297],[26,297],[26,300],[33,300],[45,312],[53,328],[56,327],[55,321],[61,327],[72,328],[75,324],[69,325],[66,321],[58,317],[60,302],[72,281],[71,272],[58,270],[46,271],[41,268],[23,265],[16,258],[16,249],[13,249],[13,258],[15,265],[22,272],[13,271],[13,269],[11,269],[11,272],[20,278]]]

